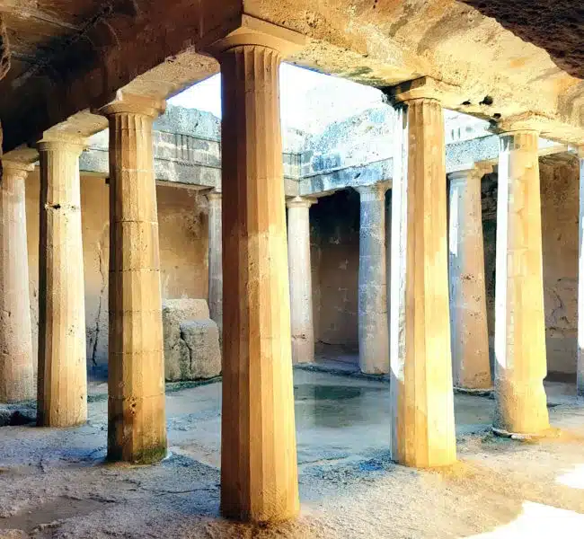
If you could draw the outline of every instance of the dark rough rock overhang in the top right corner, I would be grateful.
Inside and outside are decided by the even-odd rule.
[[[557,66],[584,78],[584,7],[580,0],[463,0],[522,40],[541,47]]]

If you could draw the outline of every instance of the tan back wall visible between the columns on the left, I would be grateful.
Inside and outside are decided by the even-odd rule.
[[[26,185],[31,274],[31,314],[36,357],[39,300],[39,174]],[[163,298],[204,297],[208,291],[207,199],[195,190],[158,186],[161,285]],[[109,191],[97,176],[82,176],[85,317],[88,367],[107,362],[109,266]]]

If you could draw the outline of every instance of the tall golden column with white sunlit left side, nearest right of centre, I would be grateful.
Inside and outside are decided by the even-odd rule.
[[[450,356],[447,185],[434,82],[398,86],[392,190],[392,456],[416,467],[456,461]]]

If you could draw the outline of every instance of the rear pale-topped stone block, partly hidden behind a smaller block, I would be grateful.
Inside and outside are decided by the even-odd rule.
[[[168,382],[193,379],[190,377],[190,368],[188,367],[190,366],[189,349],[181,338],[181,323],[191,320],[206,320],[208,317],[208,305],[204,299],[164,300],[164,378]]]

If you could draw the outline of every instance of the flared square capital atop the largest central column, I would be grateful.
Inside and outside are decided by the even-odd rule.
[[[197,51],[217,57],[228,49],[258,45],[278,50],[288,57],[305,46],[306,38],[296,31],[240,13],[217,29],[208,32],[197,45]]]

